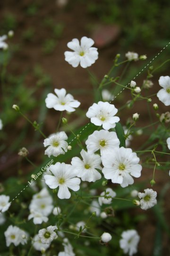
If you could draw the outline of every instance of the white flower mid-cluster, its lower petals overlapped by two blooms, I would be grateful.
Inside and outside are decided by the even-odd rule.
[[[119,147],[119,139],[115,132],[106,130],[94,131],[85,141],[87,151],[91,154],[100,149],[101,155],[107,154],[115,147]]]

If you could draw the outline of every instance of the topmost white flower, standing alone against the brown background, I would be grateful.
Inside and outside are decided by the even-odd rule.
[[[98,59],[97,48],[91,47],[93,44],[93,39],[87,37],[82,37],[80,44],[78,39],[72,39],[67,46],[74,52],[66,51],[64,53],[65,60],[73,67],[77,67],[79,64],[83,68],[91,66]]]

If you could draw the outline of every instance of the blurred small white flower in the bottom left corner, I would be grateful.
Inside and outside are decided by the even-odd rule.
[[[27,233],[16,226],[10,225],[8,229],[4,232],[4,234],[8,247],[11,243],[13,243],[15,246],[18,246],[20,243],[24,245],[27,242]]]

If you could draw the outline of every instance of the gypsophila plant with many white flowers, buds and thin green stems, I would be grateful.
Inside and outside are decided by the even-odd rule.
[[[8,48],[6,38],[0,37],[2,50]],[[80,41],[74,38],[68,43],[72,51],[63,53],[63,58],[65,55],[71,68],[80,65],[85,69],[98,59],[93,44],[88,37]],[[31,165],[32,174],[21,176],[10,195],[6,185],[1,190],[4,246],[0,255],[110,256],[114,250],[114,256],[132,256],[143,239],[137,224],[141,216],[146,216],[144,213],[152,210],[161,219],[161,228],[170,234],[161,211],[162,195],[156,191],[159,172],[169,178],[170,76],[161,75],[152,81],[156,71],[170,60],[148,67],[142,82],[135,77],[124,82],[129,65],[146,58],[130,51],[125,56],[116,55],[101,82],[87,69],[95,84],[96,102],[80,112],[89,122],[82,127],[73,129],[70,124],[74,122],[71,113],[78,112],[80,102],[66,89],[59,89],[57,81],[55,94],[48,88],[43,101],[44,108],[52,109],[56,119],[57,113],[60,116],[52,134],[29,119],[20,102],[13,102],[13,111],[42,136],[44,161],[37,165],[26,147],[18,147],[20,159],[25,158]],[[150,93],[151,89],[155,92]],[[145,124],[141,104],[148,110]],[[0,119],[1,130],[2,124]],[[21,201],[19,197],[13,200],[17,198],[17,186]]]

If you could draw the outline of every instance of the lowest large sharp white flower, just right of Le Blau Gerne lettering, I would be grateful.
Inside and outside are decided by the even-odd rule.
[[[74,170],[72,165],[65,163],[56,163],[50,165],[50,171],[53,175],[44,175],[45,183],[51,188],[59,187],[58,197],[60,199],[68,199],[71,196],[68,188],[73,191],[80,189],[80,179],[76,177],[77,171]]]

